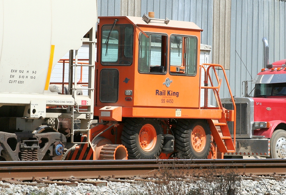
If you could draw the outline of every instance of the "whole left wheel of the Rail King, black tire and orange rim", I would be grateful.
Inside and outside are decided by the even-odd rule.
[[[128,159],[155,159],[161,153],[163,139],[163,128],[158,120],[141,118],[128,118],[121,135]]]

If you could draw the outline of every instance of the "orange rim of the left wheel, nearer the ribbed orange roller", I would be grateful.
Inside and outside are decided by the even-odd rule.
[[[151,124],[143,125],[139,132],[139,144],[142,150],[149,152],[153,150],[157,141],[156,129]]]

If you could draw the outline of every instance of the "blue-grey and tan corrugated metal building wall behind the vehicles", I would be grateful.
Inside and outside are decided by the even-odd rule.
[[[263,36],[269,42],[270,63],[286,58],[285,1],[98,0],[99,16],[143,16],[150,11],[155,12],[155,18],[192,21],[201,27],[201,43],[212,46],[213,63],[229,69],[227,77],[235,96],[242,95],[242,81],[251,80],[242,61],[252,77],[262,67]],[[218,73],[223,77],[222,70]],[[229,96],[224,83],[220,96]]]

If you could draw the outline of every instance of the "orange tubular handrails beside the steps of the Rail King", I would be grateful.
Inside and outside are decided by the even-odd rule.
[[[205,69],[205,67],[204,66],[209,66],[208,68],[207,68],[207,70]],[[212,83],[212,79],[211,79],[211,77],[210,77],[210,72],[209,72],[209,70],[210,70],[210,68],[213,68],[213,70],[214,70],[214,74],[215,74],[215,76],[216,76],[216,80],[218,81],[218,86],[217,87],[214,87],[214,85],[213,85],[213,83]],[[220,109],[220,107],[221,107],[221,109],[223,109],[222,108],[222,103],[221,103],[221,101],[220,101],[220,98],[219,98],[219,90],[220,90],[220,86],[221,86],[221,81],[222,81],[222,79],[219,79],[219,77],[218,77],[218,75],[217,75],[217,73],[216,73],[216,70],[215,70],[215,68],[214,67],[220,67],[222,70],[223,70],[223,74],[224,74],[224,77],[225,77],[225,81],[226,81],[226,83],[227,83],[227,87],[228,87],[228,90],[229,90],[229,94],[230,94],[230,96],[231,96],[231,100],[232,100],[232,103],[233,103],[233,110],[234,110],[234,121],[233,121],[233,144],[235,145],[235,136],[236,136],[236,106],[235,106],[235,102],[234,102],[234,99],[233,99],[233,96],[232,96],[232,93],[231,93],[231,89],[230,89],[230,86],[229,86],[229,82],[228,82],[228,79],[227,79],[227,75],[226,75],[226,73],[225,73],[225,69],[223,68],[223,66],[221,66],[220,64],[201,64],[200,65],[200,85],[199,85],[199,95],[201,95],[201,89],[203,88],[203,89],[205,89],[205,94],[207,94],[207,92],[206,91],[208,91],[208,89],[213,89],[213,91],[214,91],[214,95],[215,95],[215,97],[216,97],[216,100],[218,101],[218,106],[219,106],[219,109]],[[210,78],[210,83],[211,83],[211,87],[209,87],[209,86],[201,86],[201,69],[204,69],[205,70],[205,82],[207,82],[208,81],[208,77]],[[201,98],[199,98],[199,99],[201,99]],[[208,104],[207,104],[207,100],[208,99],[208,96],[205,96],[205,107],[207,107],[208,106]],[[199,100],[199,107],[200,107],[200,100]]]

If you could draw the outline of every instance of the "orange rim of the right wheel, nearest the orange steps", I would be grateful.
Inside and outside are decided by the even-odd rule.
[[[202,126],[197,125],[191,134],[192,147],[196,152],[201,152],[205,148],[206,136]]]

